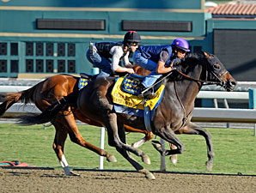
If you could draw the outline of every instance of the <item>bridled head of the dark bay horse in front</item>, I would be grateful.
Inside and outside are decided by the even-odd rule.
[[[227,91],[232,91],[235,89],[236,81],[229,71],[225,69],[220,60],[206,51],[202,51],[204,58],[207,63],[207,70],[210,72],[207,81],[216,81],[217,85],[221,85]]]

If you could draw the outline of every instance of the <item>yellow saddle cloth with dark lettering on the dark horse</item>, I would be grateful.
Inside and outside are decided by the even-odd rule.
[[[158,101],[162,100],[162,93],[165,85],[162,85],[157,89],[157,91],[155,92],[156,97],[154,99],[146,100],[145,102],[143,102],[143,97],[133,95],[131,93],[125,93],[124,91],[122,91],[121,84],[124,79],[124,77],[120,77],[113,87],[113,90],[111,92],[111,95],[113,97],[113,103],[140,110],[144,110],[144,106],[149,106],[150,111],[152,111]]]

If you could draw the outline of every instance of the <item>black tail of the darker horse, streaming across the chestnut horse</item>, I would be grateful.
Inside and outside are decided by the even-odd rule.
[[[33,125],[33,124],[46,124],[51,122],[54,119],[58,112],[68,108],[69,106],[74,107],[76,99],[78,97],[79,91],[70,93],[68,96],[65,96],[62,100],[58,100],[56,103],[53,103],[52,106],[48,106],[44,112],[40,115],[26,115],[21,116],[18,124],[24,125]]]

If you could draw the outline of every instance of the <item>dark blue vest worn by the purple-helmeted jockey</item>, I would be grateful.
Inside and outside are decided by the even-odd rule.
[[[139,46],[138,50],[142,53],[142,56],[154,61],[155,63],[158,62],[160,53],[163,50],[168,51],[168,61],[166,63],[171,62],[171,57],[173,55],[173,49],[171,45],[146,45],[146,46]]]

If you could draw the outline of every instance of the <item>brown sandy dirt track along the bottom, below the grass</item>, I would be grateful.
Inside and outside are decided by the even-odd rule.
[[[153,172],[149,180],[138,172],[2,169],[0,192],[256,192],[256,176]]]

